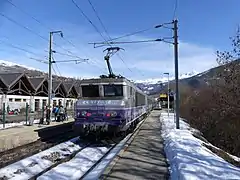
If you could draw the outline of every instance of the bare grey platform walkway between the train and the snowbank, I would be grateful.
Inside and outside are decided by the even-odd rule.
[[[169,178],[168,163],[160,132],[160,113],[160,110],[151,112],[130,145],[118,155],[119,159],[114,165],[110,165],[101,179],[161,180]]]

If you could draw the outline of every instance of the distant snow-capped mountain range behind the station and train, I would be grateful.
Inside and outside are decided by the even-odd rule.
[[[239,63],[240,60],[236,60],[232,63]],[[180,74],[179,75],[179,85],[190,86],[193,88],[200,88],[212,82],[212,80],[218,78],[219,72],[223,72],[226,70],[225,66],[218,66],[212,69],[209,69],[202,73],[197,73],[195,71]],[[46,72],[42,72],[41,70],[26,67],[21,64],[12,63],[9,61],[0,60],[0,73],[7,72],[25,72],[29,76],[46,76]],[[53,79],[73,79],[70,77],[59,77],[53,75]],[[170,77],[170,89],[174,89],[174,79],[175,77]],[[159,94],[161,92],[167,91],[167,77],[163,78],[153,78],[147,80],[138,80],[135,81],[135,84],[142,89],[145,93],[149,95]]]

